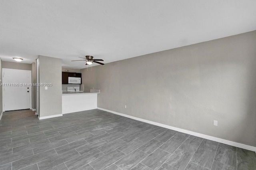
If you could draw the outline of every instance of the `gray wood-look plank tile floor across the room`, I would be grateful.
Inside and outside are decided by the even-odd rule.
[[[256,170],[255,152],[100,110],[0,121],[1,170]]]

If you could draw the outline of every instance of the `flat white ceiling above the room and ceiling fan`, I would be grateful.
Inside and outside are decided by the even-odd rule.
[[[256,30],[256,0],[0,0],[0,57],[85,68]],[[96,64],[95,64],[96,65]],[[103,66],[104,67],[104,66]]]

